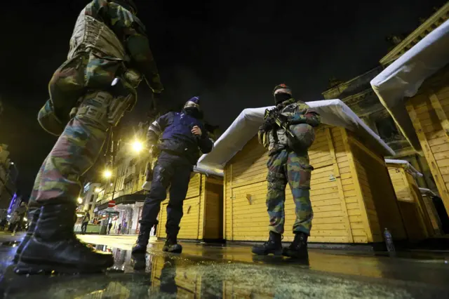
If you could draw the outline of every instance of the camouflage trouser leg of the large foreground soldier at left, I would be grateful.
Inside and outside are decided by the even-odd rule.
[[[105,92],[87,93],[76,114],[56,141],[36,175],[29,204],[51,200],[76,201],[81,192],[79,178],[98,159],[110,127]]]

